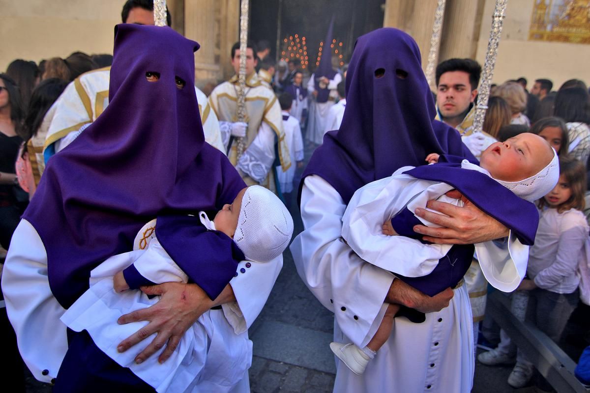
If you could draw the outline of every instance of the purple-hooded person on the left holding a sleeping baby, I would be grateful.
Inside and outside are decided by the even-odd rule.
[[[110,104],[48,161],[37,196],[17,228],[2,278],[9,318],[31,372],[40,381],[55,382],[55,392],[103,392],[113,387],[153,391],[96,348],[86,332],[68,331],[66,339],[59,320],[89,288],[90,271],[110,256],[132,250],[143,224],[158,217],[158,239],[166,250],[175,250],[175,262],[182,269],[197,251],[212,261],[231,254],[231,250],[191,248],[191,223],[186,224],[187,214],[220,210],[245,187],[227,157],[205,143],[194,90],[198,48],[168,27],[118,25]],[[199,273],[215,279],[211,272],[193,272],[195,276],[187,272],[189,285],[156,287],[162,299],[142,310],[141,318],[133,316],[133,321],[150,321],[142,328],[145,335],[136,333],[125,346],[158,333],[149,337],[150,351],[146,349],[143,356],[155,352],[158,340],[158,345],[166,344],[172,351],[178,344],[175,339],[200,315],[219,313],[209,309],[245,296],[249,297],[240,306],[232,303],[237,310],[232,315],[241,324],[238,330],[247,335],[281,263],[266,265],[260,268],[264,271],[258,266],[248,269],[249,276],[244,275],[248,280],[234,278],[235,266],[223,272],[225,283],[228,274],[232,278],[233,290],[217,303],[212,299],[223,286],[209,290],[198,286]],[[257,293],[250,293],[249,280],[257,282]],[[158,308],[160,303],[166,305]],[[247,372],[244,375],[242,388],[247,389]]]

